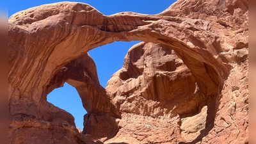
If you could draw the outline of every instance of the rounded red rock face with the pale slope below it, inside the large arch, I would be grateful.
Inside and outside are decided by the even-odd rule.
[[[106,90],[122,113],[122,128],[112,142],[119,141],[118,136],[128,143],[181,141],[180,118],[197,115],[209,99],[171,47],[144,42],[129,49],[124,67],[111,77]],[[204,128],[206,116],[198,122]]]

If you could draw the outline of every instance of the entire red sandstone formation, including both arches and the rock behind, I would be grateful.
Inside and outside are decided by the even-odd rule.
[[[109,16],[63,2],[8,23],[10,143],[248,143],[248,1]],[[116,40],[143,43],[105,90],[86,53]],[[88,111],[82,134],[47,102],[65,81]]]

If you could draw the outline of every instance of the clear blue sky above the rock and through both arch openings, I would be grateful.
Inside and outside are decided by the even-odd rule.
[[[56,2],[60,1],[8,0],[1,1],[1,7],[8,7],[8,17],[10,17],[13,13],[19,12],[20,10]],[[118,12],[156,14],[163,12],[163,10],[168,8],[175,0],[81,0],[77,2],[90,4],[104,15],[111,15]],[[137,43],[138,42],[113,42],[112,44],[98,47],[89,52],[97,65],[99,81],[103,87],[106,87],[109,78],[122,67],[124,56],[128,49]],[[55,106],[71,113],[75,118],[76,126],[83,130],[83,116],[86,111],[74,87],[65,83],[62,88],[56,88],[49,93],[47,100]]]

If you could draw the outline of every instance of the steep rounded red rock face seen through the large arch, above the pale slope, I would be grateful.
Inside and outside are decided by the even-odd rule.
[[[163,44],[143,42],[129,49],[106,90],[121,113],[153,118],[191,115],[202,103],[190,70]]]

